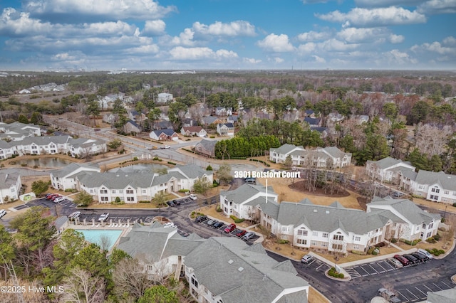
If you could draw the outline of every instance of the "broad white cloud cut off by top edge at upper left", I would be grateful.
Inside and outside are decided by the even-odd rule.
[[[27,0],[24,2],[24,9],[33,16],[53,18],[63,15],[66,16],[67,22],[94,16],[110,20],[150,20],[176,11],[175,6],[160,6],[158,2],[152,0]]]

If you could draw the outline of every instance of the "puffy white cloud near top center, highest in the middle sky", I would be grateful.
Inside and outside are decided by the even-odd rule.
[[[247,21],[232,21],[230,23],[215,22],[209,25],[195,22],[192,26],[195,33],[203,36],[255,36],[255,26]]]

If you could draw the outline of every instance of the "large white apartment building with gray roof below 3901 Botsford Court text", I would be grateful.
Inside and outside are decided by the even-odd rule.
[[[272,188],[244,184],[220,193],[220,207],[226,216],[259,219],[278,238],[296,247],[334,252],[366,251],[390,238],[425,240],[437,233],[440,215],[426,213],[412,201],[375,197],[367,211],[345,208],[337,201],[315,205],[309,199],[299,203],[278,203]]]

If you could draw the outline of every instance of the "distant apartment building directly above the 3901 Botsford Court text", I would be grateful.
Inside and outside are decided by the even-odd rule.
[[[293,165],[311,166],[316,168],[345,167],[351,164],[351,154],[337,147],[317,147],[306,150],[294,144],[284,144],[279,148],[269,149],[269,160],[284,163],[290,157]]]

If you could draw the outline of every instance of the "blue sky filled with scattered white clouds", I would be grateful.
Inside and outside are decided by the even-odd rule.
[[[456,70],[456,0],[0,0],[1,70]]]

